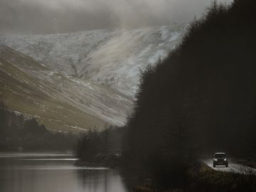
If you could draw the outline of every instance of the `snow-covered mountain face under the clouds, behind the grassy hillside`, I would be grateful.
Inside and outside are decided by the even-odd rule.
[[[53,35],[0,36],[53,72],[107,85],[134,97],[139,75],[174,49],[184,24],[132,30],[102,29]]]

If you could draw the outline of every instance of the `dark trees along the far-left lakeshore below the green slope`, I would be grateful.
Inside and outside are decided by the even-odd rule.
[[[0,150],[73,149],[75,141],[73,134],[50,132],[36,119],[25,119],[0,102]]]

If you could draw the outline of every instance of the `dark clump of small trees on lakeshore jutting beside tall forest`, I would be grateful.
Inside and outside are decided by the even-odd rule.
[[[78,139],[79,165],[118,166],[124,129],[107,127],[102,132],[89,131]]]

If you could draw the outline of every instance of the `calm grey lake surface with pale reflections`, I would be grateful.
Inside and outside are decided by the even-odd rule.
[[[119,171],[74,166],[72,154],[0,153],[1,192],[128,192]]]

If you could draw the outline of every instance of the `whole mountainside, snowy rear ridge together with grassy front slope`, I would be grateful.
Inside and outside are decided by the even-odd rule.
[[[19,112],[24,105],[11,98],[19,95],[20,102],[31,100],[33,105],[23,113],[50,129],[61,129],[61,124],[73,129],[123,125],[132,113],[141,72],[176,47],[185,27],[174,23],[132,30],[0,36],[4,45],[0,46],[0,72],[5,77],[0,78],[0,100]],[[41,97],[33,98],[31,90],[51,100],[49,106],[54,109],[44,107]],[[86,123],[78,123],[75,117],[65,122],[56,114],[70,107],[76,111],[65,110],[66,116],[82,114]]]

